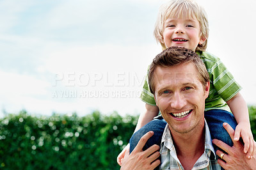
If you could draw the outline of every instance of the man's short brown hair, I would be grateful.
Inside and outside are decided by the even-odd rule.
[[[155,84],[154,84],[154,71],[157,66],[169,67],[177,66],[183,63],[193,63],[196,70],[198,70],[198,79],[205,87],[207,82],[209,82],[209,73],[207,72],[202,59],[193,50],[186,49],[184,47],[169,47],[163,50],[160,54],[153,59],[148,70],[148,84],[151,93],[155,94]]]

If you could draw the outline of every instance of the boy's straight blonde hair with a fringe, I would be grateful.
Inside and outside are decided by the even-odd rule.
[[[207,39],[209,36],[209,24],[206,12],[202,6],[200,6],[194,0],[172,0],[166,4],[163,4],[159,8],[159,13],[154,29],[154,36],[157,42],[161,43],[163,50],[167,48],[164,44],[163,38],[164,22],[170,17],[187,17],[189,19],[197,19],[200,24],[200,36],[204,36],[206,40],[204,43],[202,43],[202,45],[198,44],[196,50],[206,50]]]

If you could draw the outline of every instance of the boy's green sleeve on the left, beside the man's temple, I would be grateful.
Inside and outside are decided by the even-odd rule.
[[[143,89],[141,91],[140,99],[145,102],[146,104],[156,105],[156,101],[154,95],[150,92],[149,85],[148,85],[148,73],[145,77],[145,82]]]

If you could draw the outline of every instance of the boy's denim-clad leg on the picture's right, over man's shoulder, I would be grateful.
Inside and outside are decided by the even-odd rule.
[[[229,146],[233,146],[233,142],[222,124],[227,122],[235,130],[237,122],[234,115],[228,111],[213,109],[206,111],[204,117],[209,126],[212,139],[218,139]]]

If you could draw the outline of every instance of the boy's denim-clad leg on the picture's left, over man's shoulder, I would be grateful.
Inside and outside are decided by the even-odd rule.
[[[147,150],[147,148],[150,148],[150,146],[154,144],[158,144],[160,146],[165,126],[166,121],[161,116],[160,118],[156,118],[140,128],[140,130],[135,132],[130,139],[130,153],[134,150],[141,137],[149,131],[153,131],[154,135],[148,139],[143,150]]]

